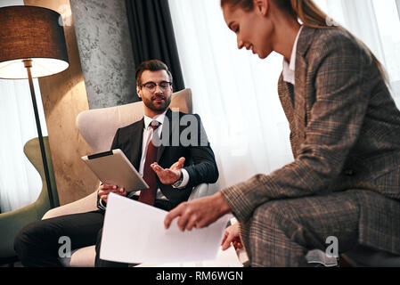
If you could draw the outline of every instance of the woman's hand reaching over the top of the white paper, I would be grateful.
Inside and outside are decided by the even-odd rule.
[[[173,208],[164,220],[165,228],[169,228],[171,222],[179,216],[177,225],[179,229],[191,231],[193,227],[198,229],[214,223],[219,217],[231,212],[231,207],[224,199],[221,192],[200,199],[193,199],[179,204]]]

